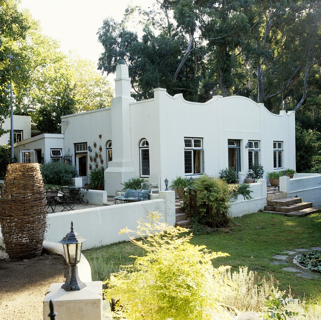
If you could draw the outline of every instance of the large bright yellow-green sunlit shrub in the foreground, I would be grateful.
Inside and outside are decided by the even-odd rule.
[[[227,267],[214,268],[212,259],[227,253],[209,252],[190,243],[187,229],[160,223],[156,212],[150,221],[138,221],[130,241],[146,251],[133,265],[121,266],[105,283],[106,299],[119,299],[118,316],[136,320],[225,319],[218,299],[228,289],[219,276]],[[133,233],[124,229],[121,233]],[[147,237],[144,239],[143,236]],[[137,239],[139,238],[139,239]]]

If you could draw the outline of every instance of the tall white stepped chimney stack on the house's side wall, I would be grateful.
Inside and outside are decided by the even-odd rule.
[[[116,68],[115,97],[111,100],[111,128],[113,141],[113,161],[105,170],[105,191],[115,195],[115,190],[122,189],[121,183],[136,176],[132,161],[130,103],[130,78],[128,67],[119,64]]]

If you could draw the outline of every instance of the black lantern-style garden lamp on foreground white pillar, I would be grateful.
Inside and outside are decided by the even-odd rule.
[[[71,222],[71,231],[66,236],[58,241],[63,244],[67,265],[69,265],[69,277],[61,286],[65,291],[81,290],[86,286],[78,276],[77,264],[80,261],[83,239],[77,232],[74,232],[74,224]]]

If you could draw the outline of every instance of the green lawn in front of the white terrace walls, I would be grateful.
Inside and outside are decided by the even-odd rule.
[[[263,212],[245,215],[234,218],[231,226],[220,233],[195,235],[191,242],[230,254],[230,257],[214,259],[215,267],[223,264],[238,270],[239,266],[248,266],[260,276],[273,274],[281,290],[288,292],[290,285],[295,297],[303,299],[305,296],[313,304],[321,305],[321,278],[299,278],[282,271],[284,265],[270,264],[272,256],[284,250],[321,246],[321,213],[304,218]],[[128,258],[129,255],[142,255],[143,252],[130,242],[122,242],[85,250],[83,254],[91,264],[95,281],[104,280],[110,272],[117,271],[119,265],[134,262],[134,258]]]

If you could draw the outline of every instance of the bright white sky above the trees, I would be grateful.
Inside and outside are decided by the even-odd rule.
[[[155,0],[21,0],[21,8],[30,10],[41,21],[45,34],[61,41],[63,51],[76,49],[82,57],[98,62],[102,45],[96,35],[103,20],[112,16],[120,21],[129,3],[151,7]]]

